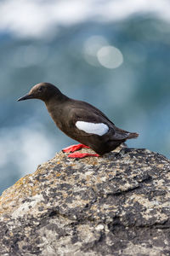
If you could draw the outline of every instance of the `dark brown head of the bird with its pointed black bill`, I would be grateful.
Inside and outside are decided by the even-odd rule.
[[[25,96],[20,97],[17,101],[20,102],[29,99],[39,99],[43,102],[47,102],[53,96],[62,96],[62,93],[53,84],[40,83],[34,85]]]

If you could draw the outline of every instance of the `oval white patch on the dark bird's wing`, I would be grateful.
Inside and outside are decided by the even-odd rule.
[[[109,127],[103,123],[94,124],[84,121],[77,121],[76,126],[79,130],[85,131],[87,133],[93,133],[99,136],[102,136],[107,131],[109,131]]]

